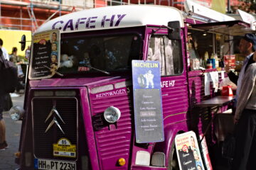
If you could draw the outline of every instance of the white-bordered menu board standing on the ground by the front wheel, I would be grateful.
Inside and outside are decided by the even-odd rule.
[[[176,135],[175,146],[180,169],[204,170],[195,132],[189,131]]]

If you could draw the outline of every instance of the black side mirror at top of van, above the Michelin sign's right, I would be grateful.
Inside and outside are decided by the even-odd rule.
[[[181,26],[179,21],[169,22],[168,27],[168,38],[170,40],[181,40]]]

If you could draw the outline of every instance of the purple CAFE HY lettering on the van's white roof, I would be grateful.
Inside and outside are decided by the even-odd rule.
[[[92,29],[96,28],[95,23],[100,21],[100,27],[117,27],[126,14],[117,14],[112,16],[103,16],[99,18],[98,16],[92,16],[87,18],[78,18],[76,21],[70,19],[68,21],[57,21],[53,23],[53,29],[59,29],[63,31],[67,30],[79,30],[79,28]]]

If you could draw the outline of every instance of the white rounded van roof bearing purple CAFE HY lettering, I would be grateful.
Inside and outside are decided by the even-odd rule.
[[[107,6],[60,16],[44,23],[36,32],[60,29],[60,33],[70,33],[146,25],[167,26],[169,21],[179,21],[181,27],[184,26],[181,11],[174,7],[153,5]]]

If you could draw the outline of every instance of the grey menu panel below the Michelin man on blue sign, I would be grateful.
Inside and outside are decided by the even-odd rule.
[[[137,99],[134,110],[137,113],[135,116],[138,143],[164,140],[160,94],[159,89],[136,89],[134,91],[134,98]]]

